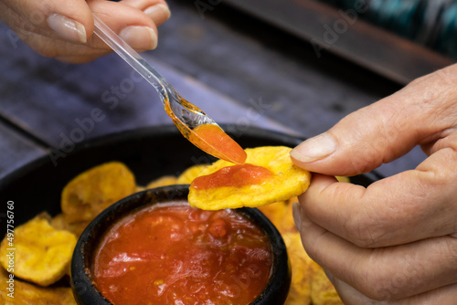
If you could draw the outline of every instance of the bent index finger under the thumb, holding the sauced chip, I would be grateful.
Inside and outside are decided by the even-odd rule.
[[[456,153],[433,153],[416,170],[367,188],[313,174],[299,197],[306,215],[359,247],[387,247],[457,232]]]

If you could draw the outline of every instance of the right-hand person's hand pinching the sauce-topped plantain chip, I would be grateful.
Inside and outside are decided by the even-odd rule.
[[[367,173],[415,145],[424,162],[367,188],[331,177]],[[456,304],[457,65],[357,110],[291,157],[319,173],[294,219],[346,304]]]

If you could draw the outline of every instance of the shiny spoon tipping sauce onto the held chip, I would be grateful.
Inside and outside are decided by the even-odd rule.
[[[92,16],[95,25],[94,33],[153,85],[164,103],[166,113],[188,141],[202,151],[219,159],[224,159],[231,163],[244,163],[246,158],[244,157],[243,160],[244,152],[242,152],[243,150],[237,142],[222,131],[218,124],[208,117],[205,112],[183,99],[159,72],[151,67],[121,37],[116,35],[99,17]],[[201,125],[213,125],[211,126],[213,127],[212,131],[218,135],[218,141],[213,141],[214,137],[207,137],[205,134],[197,132],[198,126]],[[236,153],[230,153],[230,150]]]

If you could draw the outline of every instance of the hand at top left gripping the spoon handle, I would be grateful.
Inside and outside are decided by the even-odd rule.
[[[137,51],[157,46],[157,27],[170,16],[164,0],[0,0],[0,19],[38,54],[71,63],[110,53],[92,35],[92,12]]]

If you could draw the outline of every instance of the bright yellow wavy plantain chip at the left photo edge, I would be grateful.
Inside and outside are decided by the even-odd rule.
[[[67,274],[76,241],[73,234],[36,216],[15,228],[14,239],[4,238],[0,263],[17,278],[48,286]]]

